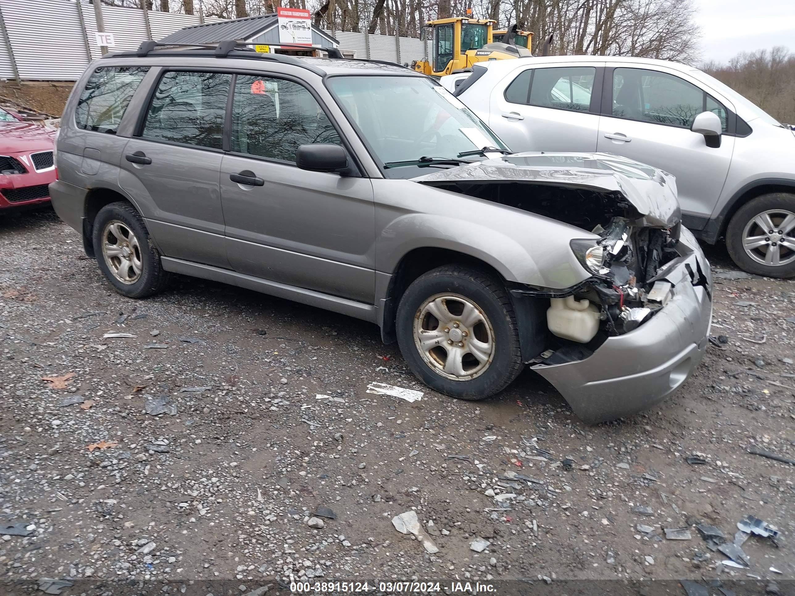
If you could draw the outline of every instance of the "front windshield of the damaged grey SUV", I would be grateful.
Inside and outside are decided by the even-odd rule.
[[[506,149],[463,103],[426,77],[333,76],[328,86],[383,164],[419,161],[421,157],[456,160],[465,157],[461,153],[484,147]],[[466,161],[483,158],[475,155]],[[427,173],[427,164],[384,170],[389,178]]]

